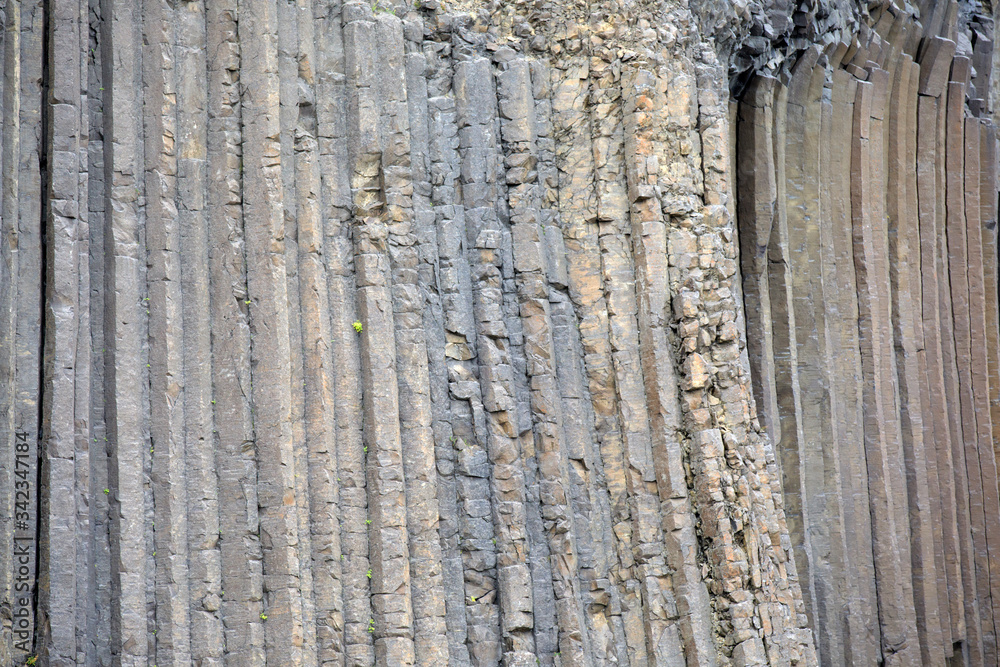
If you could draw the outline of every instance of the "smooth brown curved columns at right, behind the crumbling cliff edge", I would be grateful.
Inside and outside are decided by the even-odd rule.
[[[998,660],[993,46],[955,15],[887,7],[740,101],[754,394],[823,664]]]

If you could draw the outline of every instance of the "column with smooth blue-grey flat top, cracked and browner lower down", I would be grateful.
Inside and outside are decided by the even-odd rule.
[[[505,665],[527,667],[532,661],[537,662],[537,658],[531,634],[534,616],[528,566],[524,462],[518,439],[510,337],[501,313],[505,275],[499,252],[501,221],[496,208],[499,201],[496,191],[499,137],[495,127],[497,97],[489,61],[474,58],[460,62],[455,68],[454,87],[462,158],[465,253],[471,268],[479,385],[485,411],[485,428],[477,435],[486,445],[491,465],[490,516],[496,531],[496,592],[491,594],[489,588],[470,587],[467,572],[466,590],[482,596],[476,596],[478,606],[472,601],[474,604],[467,613],[470,626],[489,623],[489,619],[498,614],[501,631],[495,655],[489,654],[489,635],[482,642],[483,653],[476,655],[480,647],[475,644],[470,649],[474,660],[482,661],[478,664],[494,664],[499,661],[502,651]],[[479,540],[470,546],[486,551],[486,545]]]

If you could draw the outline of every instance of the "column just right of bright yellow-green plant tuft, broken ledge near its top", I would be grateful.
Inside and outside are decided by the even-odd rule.
[[[371,20],[362,7],[344,16],[354,196],[354,261],[362,328],[364,443],[376,663],[414,664],[406,495],[399,425],[389,227],[409,151],[394,132],[406,108],[399,21]],[[386,59],[386,71],[376,65]],[[402,129],[400,128],[400,129]]]

